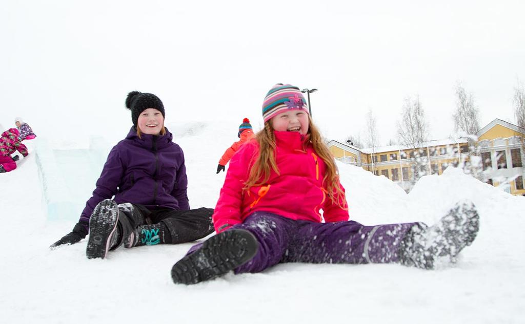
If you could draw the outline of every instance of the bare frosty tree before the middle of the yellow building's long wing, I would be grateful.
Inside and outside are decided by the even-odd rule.
[[[414,100],[406,98],[403,105],[402,120],[397,122],[397,136],[400,144],[414,151],[413,177],[411,179],[413,184],[427,174],[428,153],[423,145],[427,142],[428,130],[425,111],[419,101],[419,95]]]

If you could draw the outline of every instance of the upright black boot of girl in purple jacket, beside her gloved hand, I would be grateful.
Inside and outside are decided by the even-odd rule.
[[[111,247],[117,245],[119,209],[111,199],[102,200],[89,219],[89,239],[86,247],[88,258],[104,258]]]

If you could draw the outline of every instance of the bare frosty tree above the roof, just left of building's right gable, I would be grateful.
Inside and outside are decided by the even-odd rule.
[[[479,112],[474,105],[474,98],[459,83],[456,86],[456,112],[452,116],[456,132],[473,135],[479,131]]]

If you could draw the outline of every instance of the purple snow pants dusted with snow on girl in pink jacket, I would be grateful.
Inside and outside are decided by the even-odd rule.
[[[314,223],[255,212],[228,230],[248,230],[257,238],[257,254],[235,269],[235,273],[256,273],[284,262],[394,263],[398,261],[398,248],[406,232],[421,225],[364,226],[354,221]],[[188,254],[201,245],[192,246]]]

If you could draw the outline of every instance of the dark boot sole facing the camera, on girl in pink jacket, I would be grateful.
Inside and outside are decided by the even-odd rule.
[[[212,236],[202,247],[173,265],[175,284],[196,284],[224,275],[255,256],[259,243],[246,230],[229,230]]]

